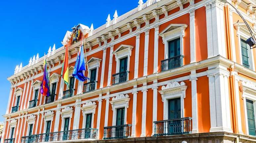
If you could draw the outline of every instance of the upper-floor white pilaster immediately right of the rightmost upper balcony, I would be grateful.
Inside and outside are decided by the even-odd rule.
[[[195,10],[190,10],[190,63],[195,62]]]

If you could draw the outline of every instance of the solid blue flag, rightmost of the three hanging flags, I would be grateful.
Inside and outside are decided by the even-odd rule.
[[[79,49],[79,53],[77,54],[77,59],[75,62],[75,67],[72,76],[78,79],[79,81],[85,81],[89,79],[88,77],[85,77],[83,74],[83,71],[86,71],[85,62],[84,62],[84,48],[83,44],[81,42],[81,46]]]

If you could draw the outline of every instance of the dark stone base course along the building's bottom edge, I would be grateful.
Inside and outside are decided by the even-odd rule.
[[[187,143],[255,143],[256,137],[229,132],[208,132],[170,136],[150,136],[123,139],[94,140],[86,141],[86,143],[182,143],[183,141],[186,141]]]

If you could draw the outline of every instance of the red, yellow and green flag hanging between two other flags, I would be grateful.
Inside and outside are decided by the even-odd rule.
[[[61,76],[62,76],[64,82],[67,84],[67,86],[69,86],[68,44],[67,44],[67,47],[66,47],[66,52],[65,52],[65,57],[64,57],[64,61],[63,61]]]

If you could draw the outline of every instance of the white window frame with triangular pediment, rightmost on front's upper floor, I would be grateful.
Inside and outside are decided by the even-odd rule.
[[[174,29],[173,29],[174,27]],[[164,59],[169,58],[169,41],[180,38],[180,48],[181,48],[181,55],[183,53],[183,38],[185,36],[185,29],[188,27],[186,24],[170,24],[166,27],[161,33],[158,35],[162,37],[163,44],[164,44]]]

